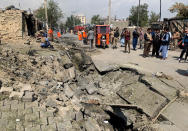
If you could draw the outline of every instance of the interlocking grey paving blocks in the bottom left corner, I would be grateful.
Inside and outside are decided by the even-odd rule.
[[[53,111],[39,107],[38,102],[0,101],[1,131],[62,130],[62,121]]]

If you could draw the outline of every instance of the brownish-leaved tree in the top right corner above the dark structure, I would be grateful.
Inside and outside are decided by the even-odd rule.
[[[171,13],[177,13],[177,17],[185,17],[188,18],[188,5],[184,5],[183,3],[176,2],[169,9]]]

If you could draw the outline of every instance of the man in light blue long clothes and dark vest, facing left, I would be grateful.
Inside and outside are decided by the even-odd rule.
[[[170,34],[168,33],[168,28],[165,27],[164,28],[164,35],[162,36],[161,39],[161,47],[160,47],[160,51],[162,51],[162,59],[166,60],[167,55],[168,55],[168,46],[170,44]]]

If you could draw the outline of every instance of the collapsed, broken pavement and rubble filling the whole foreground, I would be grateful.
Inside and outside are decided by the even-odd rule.
[[[54,50],[0,45],[0,126],[35,131],[185,131],[175,80],[92,61],[72,38]],[[177,111],[177,109],[179,111]]]

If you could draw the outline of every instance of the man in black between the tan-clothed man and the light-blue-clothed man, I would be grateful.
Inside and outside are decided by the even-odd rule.
[[[155,32],[155,35],[153,36],[153,50],[152,50],[152,56],[159,57],[159,49],[161,46],[161,34],[160,30],[157,29]]]

